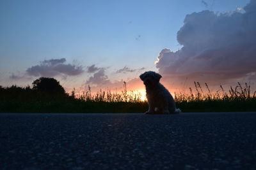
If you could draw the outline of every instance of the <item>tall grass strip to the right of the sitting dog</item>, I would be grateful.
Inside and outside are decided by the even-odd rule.
[[[256,91],[251,92],[248,83],[237,82],[226,92],[222,85],[220,90],[211,92],[207,83],[203,88],[199,82],[194,82],[194,89],[189,87],[189,93],[175,92],[175,101],[182,111],[256,111]]]

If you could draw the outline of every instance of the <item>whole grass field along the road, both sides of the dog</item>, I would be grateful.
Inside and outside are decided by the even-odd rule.
[[[195,111],[256,111],[256,92],[250,85],[237,83],[225,92],[211,92],[207,83],[204,89],[195,82],[190,93],[175,93],[177,108],[183,112]],[[30,87],[0,87],[0,112],[16,113],[143,113],[147,101],[141,94],[126,90],[122,92],[102,91],[92,93],[90,87],[81,95],[51,94]]]

